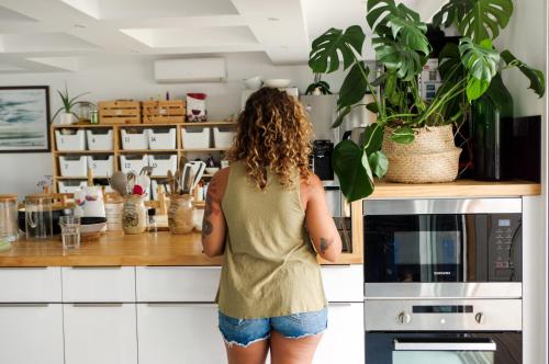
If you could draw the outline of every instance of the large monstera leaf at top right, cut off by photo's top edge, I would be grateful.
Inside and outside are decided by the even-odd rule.
[[[458,26],[459,32],[480,44],[495,39],[513,15],[513,0],[450,0],[433,18],[436,26]]]

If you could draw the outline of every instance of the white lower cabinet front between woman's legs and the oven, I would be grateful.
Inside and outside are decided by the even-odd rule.
[[[329,304],[328,329],[314,355],[314,364],[363,364],[363,303]]]

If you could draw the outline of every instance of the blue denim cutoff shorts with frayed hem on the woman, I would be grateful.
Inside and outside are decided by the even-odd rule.
[[[328,309],[320,311],[292,314],[288,316],[238,319],[223,315],[220,316],[220,331],[225,342],[238,346],[248,346],[254,342],[266,340],[270,331],[276,330],[290,339],[300,339],[315,335],[326,330],[328,326]]]

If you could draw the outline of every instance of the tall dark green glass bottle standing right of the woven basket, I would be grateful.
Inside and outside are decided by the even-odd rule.
[[[472,104],[474,178],[501,181],[511,178],[513,96],[497,73],[488,91]]]

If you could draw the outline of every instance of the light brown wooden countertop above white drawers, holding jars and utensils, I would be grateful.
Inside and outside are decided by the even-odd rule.
[[[198,232],[171,235],[123,235],[108,232],[99,241],[82,242],[80,249],[63,251],[59,239],[14,242],[11,250],[0,252],[0,266],[113,266],[113,265],[221,265],[221,257],[202,253]],[[357,263],[341,254],[336,264]]]

